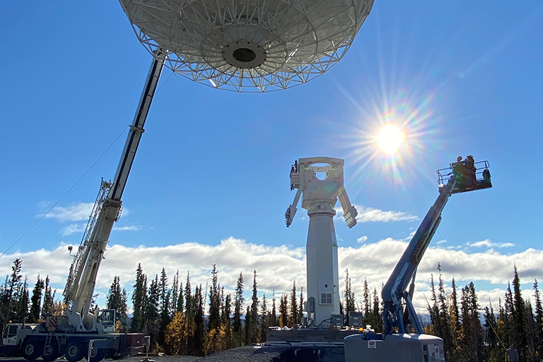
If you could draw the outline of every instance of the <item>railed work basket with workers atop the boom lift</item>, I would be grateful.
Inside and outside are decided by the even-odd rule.
[[[492,187],[489,161],[472,163],[466,159],[449,165],[448,168],[436,171],[438,173],[439,192],[443,191],[443,188],[452,177],[456,179],[456,185],[450,192],[451,194]]]

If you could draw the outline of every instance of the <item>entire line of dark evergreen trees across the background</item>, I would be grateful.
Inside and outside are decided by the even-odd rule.
[[[61,301],[55,301],[49,277],[37,281],[30,295],[28,278],[21,274],[22,261],[15,259],[12,272],[0,285],[0,323],[44,322],[48,315],[60,315]],[[383,302],[376,288],[370,291],[363,282],[363,298],[358,304],[351,288],[351,277],[346,270],[341,313],[363,313],[363,325],[371,325],[375,332],[383,332]],[[303,316],[303,288],[300,293],[296,281],[290,293],[281,293],[276,305],[275,293],[271,300],[258,298],[257,271],[252,275],[252,296],[245,303],[244,276],[239,274],[233,294],[225,293],[213,265],[211,281],[202,286],[191,286],[187,273],[185,285],[179,271],[171,284],[162,269],[148,279],[141,264],[136,269],[132,293],[133,315],[128,320],[127,291],[115,276],[107,293],[105,308],[117,310],[117,331],[142,332],[151,336],[154,351],[166,354],[203,356],[215,351],[265,341],[271,326],[294,327]],[[452,292],[445,293],[445,282],[438,264],[437,285],[431,276],[431,300],[428,301],[429,322],[424,326],[428,334],[441,337],[448,361],[476,362],[503,361],[505,350],[515,344],[522,361],[541,361],[543,356],[543,305],[537,280],[533,285],[535,303],[522,298],[520,279],[514,268],[512,286],[498,299],[498,309],[490,303],[481,309],[474,284],[460,288],[451,281]],[[207,311],[207,313],[205,313]]]

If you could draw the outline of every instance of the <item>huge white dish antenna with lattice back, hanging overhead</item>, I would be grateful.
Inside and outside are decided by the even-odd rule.
[[[325,73],[351,46],[374,0],[119,0],[139,41],[178,74],[264,92]]]

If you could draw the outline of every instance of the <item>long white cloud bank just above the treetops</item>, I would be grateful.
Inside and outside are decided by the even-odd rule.
[[[407,242],[404,240],[387,238],[377,243],[363,243],[358,247],[339,247],[341,289],[344,285],[342,280],[344,271],[348,268],[356,299],[362,296],[365,278],[368,279],[371,290],[376,288],[380,293],[382,284],[387,281],[406,246]],[[35,282],[37,274],[42,277],[49,274],[53,287],[58,288],[57,296],[62,295],[66,274],[72,261],[65,244],[55,250],[40,249],[4,255],[0,258],[0,276],[11,272],[11,264],[16,257],[23,259],[23,274],[28,275],[30,284]],[[205,286],[206,282],[210,281],[211,267],[216,264],[219,282],[225,287],[227,293],[233,291],[236,279],[240,271],[243,271],[247,297],[252,286],[252,271],[255,269],[258,274],[260,296],[265,293],[269,298],[274,290],[276,296],[280,296],[283,292],[288,293],[295,279],[298,287],[305,285],[304,247],[259,245],[233,237],[221,240],[221,243],[217,245],[182,243],[165,247],[143,245],[126,247],[110,244],[105,252],[105,258],[96,287],[100,293],[99,303],[104,303],[105,295],[115,275],[120,276],[124,288],[129,293],[132,292],[138,263],[141,263],[144,272],[149,277],[160,274],[164,267],[170,283],[175,271],[179,269],[182,282],[185,284],[187,271],[189,271],[193,288],[197,284]],[[543,275],[543,250],[528,249],[503,255],[496,250],[469,253],[466,250],[448,251],[440,245],[431,246],[428,247],[417,273],[414,304],[419,313],[426,313],[425,296],[426,298],[430,296],[428,286],[430,275],[433,274],[437,278],[438,262],[441,264],[443,280],[448,292],[450,292],[450,281],[453,276],[459,289],[465,284],[461,271],[468,282],[474,281],[482,307],[487,305],[489,297],[495,308],[497,298],[503,299],[504,285],[513,279],[513,264],[516,263],[518,267],[526,296],[532,293],[534,279]],[[340,293],[342,293],[341,289]]]

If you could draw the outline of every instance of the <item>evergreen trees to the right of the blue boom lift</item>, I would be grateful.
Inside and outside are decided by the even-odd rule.
[[[534,308],[522,298],[517,267],[513,269],[513,290],[508,282],[498,310],[489,300],[481,309],[473,283],[445,294],[441,267],[438,264],[438,285],[431,278],[431,301],[428,313],[431,322],[425,332],[443,339],[445,358],[458,362],[501,362],[511,344],[518,350],[520,361],[541,361],[543,356],[543,307],[537,279],[533,285]],[[482,317],[481,317],[482,312]]]

